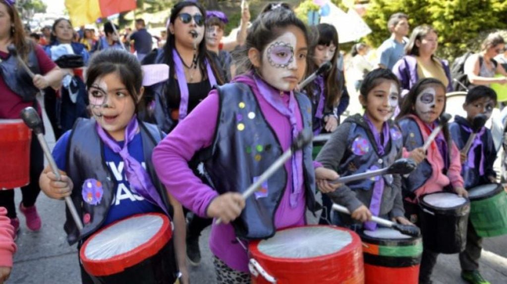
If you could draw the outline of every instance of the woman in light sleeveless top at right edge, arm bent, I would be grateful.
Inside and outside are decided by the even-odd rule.
[[[507,83],[507,72],[493,58],[505,50],[505,41],[499,33],[490,33],[481,44],[479,53],[470,55],[464,66],[464,73],[473,85]],[[495,74],[502,75],[495,77]]]

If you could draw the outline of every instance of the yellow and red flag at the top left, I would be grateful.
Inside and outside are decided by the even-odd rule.
[[[65,0],[70,21],[75,27],[94,23],[120,12],[136,8],[135,0]]]

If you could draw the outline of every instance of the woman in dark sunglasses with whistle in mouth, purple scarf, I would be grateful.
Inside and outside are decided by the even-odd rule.
[[[206,52],[204,8],[191,1],[179,2],[171,10],[167,42],[142,61],[169,65],[169,79],[146,90],[144,119],[163,131],[172,130],[223,79]]]

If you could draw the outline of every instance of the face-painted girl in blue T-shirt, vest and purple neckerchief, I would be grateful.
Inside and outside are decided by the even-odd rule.
[[[58,180],[48,166],[39,183],[50,198],[70,196],[84,228],[76,228],[67,214],[65,230],[70,245],[84,241],[95,231],[135,214],[158,212],[174,223],[174,251],[168,267],[176,280],[188,283],[185,264],[185,218],[182,206],[161,185],[153,170],[151,153],[163,133],[137,118],[143,95],[141,66],[125,51],[97,53],[87,69],[86,86],[93,114],[79,119],[56,142],[53,157]],[[93,283],[82,268],[83,283]]]

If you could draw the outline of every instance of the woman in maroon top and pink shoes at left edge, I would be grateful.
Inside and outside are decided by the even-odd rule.
[[[63,72],[44,53],[41,46],[25,36],[23,24],[19,18],[14,1],[0,0],[0,119],[19,119],[22,109],[35,107],[42,116],[41,107],[35,95],[40,89],[60,87]],[[13,44],[18,57],[29,66],[35,75],[19,67],[15,56],[10,55],[8,46]],[[2,155],[12,155],[4,151]],[[41,218],[35,208],[35,200],[39,195],[38,178],[44,167],[42,148],[33,133],[30,145],[30,183],[21,187],[23,200],[19,204],[20,211],[26,217],[26,226],[37,231],[41,228]],[[19,219],[14,205],[14,190],[0,191],[0,206],[7,208],[7,216],[15,230],[19,231]]]

